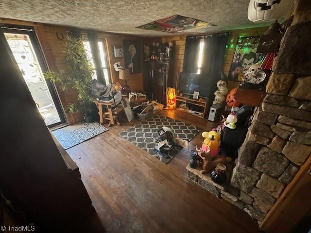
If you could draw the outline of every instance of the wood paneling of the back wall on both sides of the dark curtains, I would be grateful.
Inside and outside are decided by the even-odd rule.
[[[239,36],[260,36],[262,35],[268,27],[258,27],[258,28],[247,28],[247,29],[239,29],[230,31],[230,35],[228,37],[227,45],[228,48],[225,50],[225,61],[224,61],[224,72],[228,75],[231,67],[231,63],[233,60],[235,46],[238,41]],[[178,75],[178,71],[183,70],[183,63],[184,63],[184,54],[185,54],[185,44],[186,44],[186,37],[187,35],[182,36],[168,36],[168,37],[157,37],[154,38],[155,41],[160,42],[174,42],[174,84],[176,83],[176,78]],[[230,45],[233,44],[233,47]],[[234,87],[237,85],[237,82],[229,82],[229,87]]]

